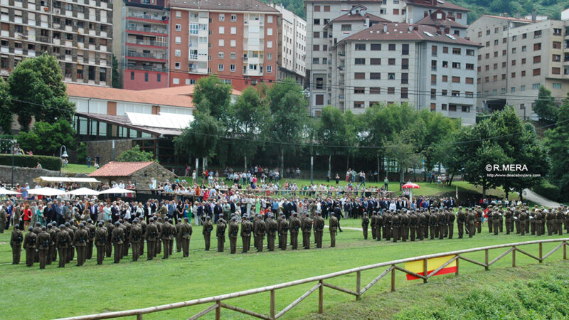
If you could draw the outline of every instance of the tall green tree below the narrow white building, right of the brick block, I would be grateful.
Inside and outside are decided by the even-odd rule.
[[[270,117],[265,129],[266,137],[278,143],[281,176],[284,176],[285,153],[299,150],[303,137],[307,136],[307,102],[297,82],[287,78],[273,85],[267,92]]]

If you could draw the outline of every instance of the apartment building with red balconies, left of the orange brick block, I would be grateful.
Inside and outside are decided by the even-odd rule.
[[[124,89],[168,86],[167,0],[114,0],[113,53]]]

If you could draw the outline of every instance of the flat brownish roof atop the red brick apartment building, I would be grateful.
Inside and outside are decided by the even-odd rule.
[[[215,11],[257,11],[279,14],[277,9],[257,0],[171,0],[170,6],[173,8]]]

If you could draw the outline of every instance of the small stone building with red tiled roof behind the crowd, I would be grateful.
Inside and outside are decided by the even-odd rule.
[[[149,190],[151,183],[156,186],[158,183],[174,181],[176,175],[164,168],[155,161],[141,161],[141,162],[115,162],[111,161],[105,166],[102,166],[97,171],[89,174],[90,177],[99,179],[102,183],[112,183],[116,181],[132,181],[137,187],[137,190]]]

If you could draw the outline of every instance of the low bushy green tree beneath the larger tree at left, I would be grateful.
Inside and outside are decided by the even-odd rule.
[[[58,119],[53,124],[36,122],[30,132],[20,132],[16,139],[25,151],[31,150],[33,154],[43,156],[58,156],[62,145],[68,150],[77,148],[76,136],[77,132],[67,120]]]

